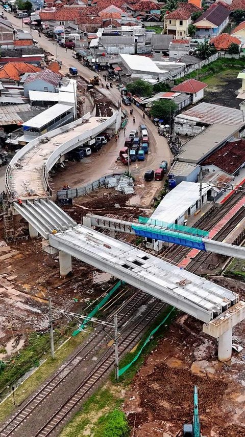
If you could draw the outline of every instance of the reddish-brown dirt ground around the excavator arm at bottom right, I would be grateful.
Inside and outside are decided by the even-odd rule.
[[[234,342],[245,346],[245,323]],[[202,333],[202,323],[180,313],[158,347],[146,358],[126,395],[124,411],[131,436],[176,437],[191,423],[193,386],[199,390],[202,435],[245,436],[245,355],[233,352],[229,363],[217,361],[217,341]]]

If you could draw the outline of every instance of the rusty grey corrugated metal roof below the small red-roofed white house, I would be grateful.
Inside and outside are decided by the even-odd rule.
[[[184,119],[185,116],[196,117],[200,121],[209,124],[233,124],[239,127],[245,124],[242,111],[227,106],[213,105],[211,103],[199,103],[197,106],[193,106],[178,115],[176,121],[178,118]]]

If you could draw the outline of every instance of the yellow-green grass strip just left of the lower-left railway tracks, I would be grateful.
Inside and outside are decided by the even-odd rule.
[[[36,390],[40,384],[42,384],[48,376],[52,375],[55,370],[64,362],[64,360],[72,353],[74,350],[81,345],[84,338],[88,335],[88,332],[80,333],[77,337],[71,337],[65,344],[58,349],[55,354],[55,359],[52,360],[51,357],[34,372],[23,384],[15,390],[15,400],[16,404],[20,405],[28,396]],[[24,349],[23,349],[24,351]],[[22,353],[23,353],[22,351]],[[22,355],[22,354],[21,354]],[[0,408],[0,422],[8,416],[15,409],[13,405],[12,397],[7,398]]]

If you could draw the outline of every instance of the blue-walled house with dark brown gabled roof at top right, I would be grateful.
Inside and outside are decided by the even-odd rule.
[[[217,4],[210,6],[197,20],[194,26],[197,28],[195,37],[212,37],[219,35],[228,25],[230,10]]]

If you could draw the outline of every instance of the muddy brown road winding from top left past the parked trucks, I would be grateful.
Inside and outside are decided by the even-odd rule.
[[[14,17],[12,14],[5,13],[11,23],[20,28],[22,26],[21,20]],[[30,31],[30,26],[24,25],[24,29]],[[69,67],[72,65],[78,69],[78,73],[86,78],[87,80],[93,75],[93,72],[87,67],[82,65],[76,58],[74,58],[74,53],[71,50],[65,51],[64,48],[56,47],[56,45],[48,40],[45,36],[38,36],[36,30],[32,31],[34,39],[37,39],[39,46],[47,50],[56,58],[56,50],[58,54],[58,59],[62,61],[62,73],[67,73]],[[102,82],[105,84],[104,79]],[[113,86],[112,89],[107,90],[102,88],[102,86],[97,87],[99,91],[112,100],[115,104],[120,101],[120,93],[116,87]],[[157,127],[148,119],[143,119],[142,111],[136,106],[132,105],[134,115],[136,117],[136,122],[133,124],[132,117],[129,117],[129,122],[127,124],[126,136],[129,134],[131,129],[137,129],[139,124],[145,124],[148,127],[150,133],[150,151],[147,159],[144,162],[132,163],[131,171],[133,176],[137,179],[136,194],[140,196],[140,203],[143,205],[148,205],[158,191],[162,184],[156,181],[152,183],[144,182],[143,175],[145,170],[153,169],[156,170],[159,163],[162,160],[168,161],[170,163],[171,153],[168,148],[167,142],[163,137],[157,134]],[[129,106],[125,107],[129,111]],[[66,170],[58,173],[53,179],[53,188],[57,190],[62,187],[63,183],[68,183],[72,187],[79,187],[85,185],[91,181],[101,178],[104,174],[124,171],[125,166],[120,162],[116,163],[115,160],[119,155],[119,150],[124,146],[124,132],[122,131],[119,135],[117,143],[114,139],[107,144],[103,150],[96,155],[93,154],[90,158],[84,159],[81,163],[67,163]],[[1,176],[0,176],[0,187],[1,187]]]

